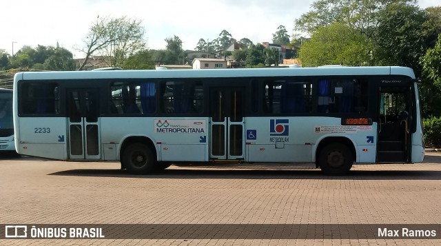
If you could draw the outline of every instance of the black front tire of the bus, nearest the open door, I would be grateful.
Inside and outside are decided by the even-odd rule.
[[[353,154],[347,145],[332,143],[326,145],[318,154],[318,165],[327,175],[344,175],[351,170]]]

